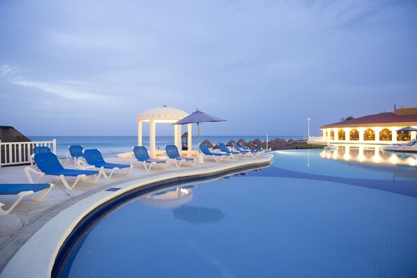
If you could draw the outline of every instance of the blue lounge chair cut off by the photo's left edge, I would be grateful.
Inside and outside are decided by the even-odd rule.
[[[0,215],[8,215],[17,203],[19,203],[24,196],[29,196],[33,201],[40,201],[46,196],[48,192],[54,187],[52,183],[10,183],[0,184],[0,195],[17,195],[16,201],[7,209],[3,210],[4,203],[0,203]],[[33,196],[35,192],[45,190],[38,198]]]

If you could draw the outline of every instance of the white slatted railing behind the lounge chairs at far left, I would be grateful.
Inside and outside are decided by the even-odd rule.
[[[0,167],[5,165],[27,164],[31,162],[33,147],[47,146],[56,153],[56,139],[52,141],[30,142],[1,142],[0,141]]]

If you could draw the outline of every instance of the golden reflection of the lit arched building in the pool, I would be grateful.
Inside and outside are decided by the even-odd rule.
[[[417,167],[417,155],[404,153],[386,153],[380,146],[338,146],[331,150],[323,150],[321,158],[344,160],[369,164],[397,164]]]

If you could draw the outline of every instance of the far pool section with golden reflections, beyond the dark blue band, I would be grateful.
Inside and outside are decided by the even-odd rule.
[[[328,150],[279,150],[273,167],[343,178],[417,180],[417,155],[386,153],[380,146],[336,146]]]

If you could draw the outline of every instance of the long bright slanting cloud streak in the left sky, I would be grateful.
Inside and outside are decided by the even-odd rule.
[[[27,79],[17,78],[12,81],[15,85],[20,85],[29,88],[36,88],[47,93],[53,93],[59,95],[62,98],[68,100],[104,100],[102,95],[91,93],[89,91],[84,91],[82,88],[74,88],[72,86],[52,83],[52,82],[43,82],[43,81],[30,81]],[[105,100],[110,100],[109,97]]]

